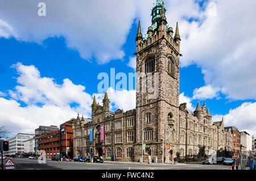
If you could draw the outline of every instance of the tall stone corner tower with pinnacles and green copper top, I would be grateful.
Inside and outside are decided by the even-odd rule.
[[[143,144],[147,150],[152,149],[153,157],[158,162],[164,162],[167,151],[167,132],[179,130],[179,83],[180,83],[180,35],[178,23],[176,31],[167,25],[166,9],[162,0],[157,0],[151,12],[151,26],[146,35],[142,36],[141,22],[138,24],[136,36],[137,56],[136,72],[136,142],[135,154],[142,156],[142,112],[143,112]],[[143,81],[139,75],[152,75],[146,85],[152,83],[158,96],[151,97],[152,93],[142,91]],[[158,86],[155,82],[158,81]],[[173,140],[177,141],[177,136]],[[144,157],[144,158],[145,158]],[[146,158],[145,158],[146,159]]]

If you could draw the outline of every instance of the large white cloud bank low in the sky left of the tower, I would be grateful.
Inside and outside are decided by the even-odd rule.
[[[34,133],[39,125],[57,125],[76,117],[77,112],[84,117],[91,116],[93,96],[85,92],[85,87],[75,85],[69,79],[57,84],[53,78],[41,77],[34,65],[21,63],[13,65],[19,77],[14,90],[9,90],[11,98],[0,97],[0,125],[6,125],[13,133]],[[0,92],[3,96],[3,92]],[[102,105],[104,94],[96,95],[97,102]],[[6,95],[5,95],[6,96]],[[135,90],[115,91],[108,89],[110,108],[123,111],[135,108]],[[20,106],[24,102],[27,106]],[[71,104],[76,103],[75,107]]]

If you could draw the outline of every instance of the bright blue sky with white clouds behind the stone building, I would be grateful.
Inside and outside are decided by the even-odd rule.
[[[12,103],[14,104],[15,102],[19,103],[19,106],[16,106],[16,104],[14,106],[19,109],[17,112],[27,111],[27,114],[26,116],[17,114],[15,117],[24,116],[24,121],[29,120],[28,123],[33,123],[32,119],[36,117],[36,115],[31,115],[30,117],[28,112],[36,112],[37,107],[43,110],[43,108],[47,106],[53,106],[57,110],[61,108],[65,110],[65,112],[58,112],[61,116],[56,115],[58,114],[56,112],[49,113],[49,115],[56,116],[52,118],[57,119],[55,122],[56,125],[63,123],[71,117],[75,117],[77,111],[89,117],[89,104],[93,95],[96,95],[97,101],[100,101],[102,98],[102,94],[98,94],[99,92],[97,91],[97,85],[100,82],[100,80],[97,79],[97,75],[101,72],[110,74],[110,68],[115,68],[116,74],[123,72],[127,74],[127,76],[128,73],[134,72],[131,63],[134,60],[133,53],[136,52],[135,36],[137,34],[138,19],[142,21],[143,33],[146,33],[147,27],[151,25],[150,10],[152,2],[130,1],[118,3],[117,6],[120,7],[115,7],[116,9],[131,9],[130,13],[117,12],[120,14],[112,16],[109,9],[107,12],[109,12],[110,17],[106,17],[104,21],[99,20],[102,23],[102,26],[100,26],[100,29],[102,29],[101,32],[97,32],[100,22],[96,22],[95,19],[95,22],[88,20],[89,22],[82,23],[81,25],[79,20],[76,22],[76,19],[71,18],[70,22],[73,20],[72,26],[74,27],[72,29],[72,26],[68,25],[67,21],[69,20],[65,19],[65,17],[61,19],[61,16],[58,17],[58,19],[55,17],[57,16],[56,14],[51,13],[51,9],[53,9],[54,5],[51,5],[50,1],[46,1],[46,5],[49,9],[46,18],[42,20],[42,22],[40,22],[40,17],[38,16],[34,19],[27,19],[27,22],[30,23],[28,27],[25,26],[27,23],[22,24],[17,20],[18,16],[10,15],[7,11],[2,11],[0,13],[0,103],[2,101],[2,106],[10,105],[11,101],[13,101]],[[216,5],[217,10],[226,9],[228,7],[226,3],[220,1],[212,2]],[[11,2],[9,3],[11,6]],[[97,5],[97,1],[95,3]],[[228,16],[217,11],[218,14],[213,17],[217,20],[212,20],[211,18],[214,15],[208,13],[209,7],[212,7],[210,6],[210,1],[165,1],[165,3],[168,10],[168,23],[173,28],[175,28],[176,21],[180,23],[181,53],[183,54],[183,57],[180,58],[180,94],[184,92],[180,99],[191,103],[190,106],[188,105],[191,109],[196,107],[198,100],[200,100],[201,106],[203,106],[205,100],[214,120],[217,121],[220,120],[221,117],[224,117],[227,126],[234,124],[238,129],[246,129],[250,133],[255,133],[255,115],[249,114],[250,116],[246,117],[245,114],[248,114],[247,112],[251,112],[251,109],[255,108],[256,95],[252,90],[256,87],[250,82],[255,82],[256,76],[253,75],[253,77],[251,77],[249,67],[247,73],[236,77],[237,75],[235,75],[234,72],[237,72],[236,69],[243,66],[239,65],[238,68],[232,67],[232,69],[230,69],[229,64],[230,61],[236,62],[237,58],[247,54],[246,51],[249,51],[246,49],[247,44],[234,42],[232,37],[235,37],[235,35],[230,35],[230,39],[226,39],[225,43],[223,42],[225,33],[227,35],[233,34],[233,28],[229,28],[233,27],[233,24],[225,23],[227,19],[232,17],[233,12],[228,12]],[[240,2],[236,1],[234,5],[238,5],[239,3]],[[9,7],[9,5],[5,6],[6,8]],[[68,5],[67,7],[65,5],[63,6],[63,8],[68,7]],[[94,7],[94,4],[92,6]],[[22,7],[24,11],[28,8],[27,6]],[[76,5],[72,4],[71,7],[75,8]],[[134,10],[134,7],[137,7],[137,9]],[[36,9],[38,9],[38,7],[36,7],[35,10]],[[241,9],[243,10],[243,7]],[[180,10],[183,10],[183,12],[180,12]],[[253,13],[253,10],[248,10],[248,13],[249,12]],[[27,13],[29,15],[32,12],[28,11]],[[86,12],[81,12],[81,14],[83,13],[86,14]],[[104,12],[99,12],[99,14],[101,13],[104,14]],[[101,17],[101,15],[99,16]],[[120,17],[118,20],[122,23],[115,20],[117,16]],[[86,17],[88,16],[84,16],[85,21]],[[104,17],[104,15],[102,15],[102,17]],[[56,21],[63,24],[60,23],[59,27],[54,27],[52,23],[48,23],[52,21],[54,24],[55,18],[57,19]],[[40,27],[36,27],[38,26],[38,24],[36,24],[38,21],[39,24],[45,25],[44,28],[46,31],[42,31],[42,27],[41,29]],[[67,22],[67,24],[65,24],[65,22]],[[248,26],[247,28],[253,28],[253,30],[255,28],[254,25],[247,23],[246,20],[238,19],[237,22],[245,24],[245,26]],[[35,23],[34,26],[31,25],[33,23]],[[87,26],[86,23],[92,24]],[[108,28],[104,26],[104,23],[109,24],[109,27],[112,27],[109,28],[111,30],[106,30]],[[212,37],[209,38],[209,31],[212,32],[212,27],[216,27],[217,23],[228,24],[225,25],[228,28],[226,28],[226,31],[222,30],[222,28],[216,30],[217,33],[212,33]],[[67,27],[67,30],[63,30],[65,29],[64,27]],[[224,31],[224,33],[222,33],[224,34],[223,38],[219,37],[221,31]],[[242,29],[238,29],[237,31],[242,32]],[[106,35],[103,36],[102,34],[105,33]],[[250,34],[250,32],[249,35],[253,37],[248,37],[246,40],[252,39],[251,44],[254,44],[255,35]],[[250,42],[248,44],[250,44]],[[238,49],[238,45],[243,48]],[[221,51],[222,49],[225,49],[226,52]],[[255,54],[250,54],[249,57],[247,56],[248,55],[246,55],[246,60],[251,62],[251,65],[255,65]],[[39,74],[36,73],[36,70]],[[35,77],[39,76],[39,81],[44,81],[43,79],[46,78],[46,82],[50,82],[51,86],[54,85],[57,90],[56,92],[65,89],[64,79],[68,79],[72,82],[68,83],[70,86],[68,90],[72,91],[73,88],[79,89],[77,90],[77,97],[71,95],[66,98],[63,96],[63,100],[55,100],[51,95],[50,98],[46,90],[39,85],[35,88],[34,85],[26,84],[31,73],[36,74]],[[19,80],[17,79],[18,77]],[[250,81],[243,81],[246,78],[250,78]],[[46,86],[47,85],[46,83]],[[80,89],[79,85],[84,86],[85,89],[82,87],[80,87]],[[20,89],[20,87],[25,87],[26,91],[23,88]],[[27,91],[27,89],[31,89],[35,92],[31,93]],[[112,111],[115,111],[120,106],[124,110],[135,108],[134,103],[126,102],[129,98],[114,99],[115,95],[123,97],[135,95],[134,92],[130,91],[132,90],[123,92],[113,90],[113,95],[110,95],[110,98],[113,97],[113,101],[110,99],[110,101],[112,101]],[[31,98],[32,96],[30,96],[30,94],[35,95],[35,100]],[[82,96],[81,99],[79,98],[80,94]],[[134,100],[135,98],[131,101]],[[82,102],[84,102],[84,104]],[[124,104],[129,104],[130,106],[125,106]],[[30,108],[33,109],[33,111],[31,111]],[[10,110],[10,113],[12,112],[16,111]],[[235,115],[238,116],[236,117]],[[49,118],[45,117],[44,119]],[[250,127],[249,125],[241,124],[241,119],[245,122],[247,120]],[[10,123],[6,126],[14,132],[23,131],[31,133],[33,129],[35,129],[32,127],[36,127],[41,123],[48,124],[52,120],[33,123],[30,128],[23,128],[22,125],[16,125],[15,121],[10,121],[11,122],[9,122],[8,118],[0,119],[0,125]]]

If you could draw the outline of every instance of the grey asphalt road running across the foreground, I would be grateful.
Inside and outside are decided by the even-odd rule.
[[[38,163],[37,159],[13,158],[11,159],[16,169],[23,170],[229,170],[225,165],[203,165],[178,163],[170,165],[167,163],[83,163],[83,162],[60,162],[49,161]],[[3,163],[6,162],[6,159]]]

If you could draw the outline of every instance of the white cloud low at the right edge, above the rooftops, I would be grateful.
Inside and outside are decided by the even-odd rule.
[[[252,136],[256,135],[256,103],[245,102],[241,106],[230,109],[226,115],[214,115],[214,121],[224,117],[224,126],[235,126],[239,131],[246,131]]]

